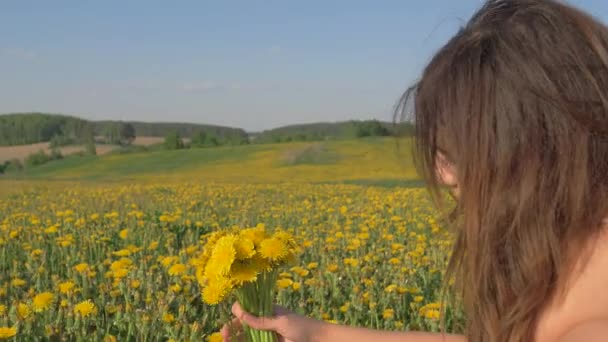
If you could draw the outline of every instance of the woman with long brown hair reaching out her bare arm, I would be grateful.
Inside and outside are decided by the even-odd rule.
[[[608,341],[608,28],[558,1],[489,1],[397,112],[410,108],[433,197],[443,205],[443,184],[457,198],[449,274],[465,335],[379,332],[281,308],[261,319],[238,304],[234,322],[295,342]]]

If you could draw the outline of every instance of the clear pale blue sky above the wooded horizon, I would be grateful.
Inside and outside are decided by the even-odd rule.
[[[570,3],[608,18],[608,1]],[[261,130],[377,118],[481,0],[0,3],[0,113]]]

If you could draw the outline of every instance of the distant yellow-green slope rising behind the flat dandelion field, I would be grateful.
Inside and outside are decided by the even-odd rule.
[[[251,144],[208,149],[73,156],[6,178],[191,180],[204,182],[362,182],[417,179],[410,140],[393,138]]]

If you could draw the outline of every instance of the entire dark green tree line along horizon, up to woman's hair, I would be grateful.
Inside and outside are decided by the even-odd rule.
[[[51,147],[92,143],[128,145],[137,136],[165,137],[166,140],[169,137],[180,141],[190,138],[195,145],[217,146],[412,135],[413,131],[410,123],[394,125],[377,120],[291,125],[247,133],[240,128],[192,123],[88,121],[45,113],[0,115],[0,146],[40,142],[50,142]]]

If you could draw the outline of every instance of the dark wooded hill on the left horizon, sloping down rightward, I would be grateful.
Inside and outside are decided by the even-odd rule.
[[[0,115],[0,146],[29,145],[50,142],[56,145],[85,144],[103,138],[104,143],[120,143],[125,127],[134,130],[134,137],[163,137],[178,132],[182,137],[191,137],[199,132],[213,136],[219,141],[242,142],[247,133],[240,128],[192,123],[145,123],[123,121],[88,121],[81,118],[46,113],[15,113]],[[94,138],[97,137],[97,138]]]

